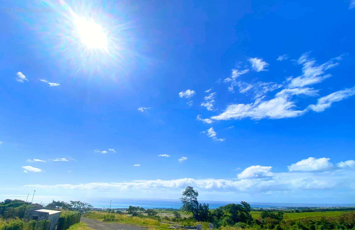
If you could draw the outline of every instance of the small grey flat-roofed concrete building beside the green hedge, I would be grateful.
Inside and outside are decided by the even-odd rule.
[[[56,230],[60,216],[59,210],[49,208],[35,208],[26,210],[24,218],[28,220],[50,220],[49,230]]]

